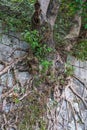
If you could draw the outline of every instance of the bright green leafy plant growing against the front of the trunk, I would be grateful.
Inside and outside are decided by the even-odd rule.
[[[52,51],[52,48],[47,47],[46,44],[40,43],[39,32],[36,30],[26,30],[23,36],[25,41],[29,43],[34,56],[38,58],[40,65],[42,65],[43,72],[47,71],[52,63],[48,61],[46,57]]]

